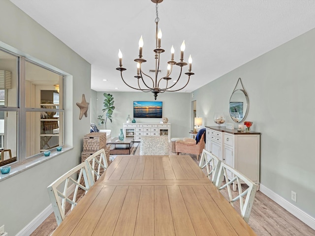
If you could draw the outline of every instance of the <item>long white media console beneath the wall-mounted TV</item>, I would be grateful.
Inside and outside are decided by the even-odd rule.
[[[125,137],[133,137],[134,142],[140,142],[143,136],[168,136],[171,142],[171,124],[161,123],[124,123]]]

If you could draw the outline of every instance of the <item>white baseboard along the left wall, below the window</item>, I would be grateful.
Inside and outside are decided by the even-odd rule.
[[[67,193],[71,194],[74,191],[74,188],[75,185],[71,184],[71,186],[67,190]],[[43,223],[44,220],[46,220],[47,217],[50,216],[50,214],[53,212],[53,207],[51,204],[49,204],[48,207],[46,207],[42,212],[39,213],[39,215],[32,219],[32,221],[19,233],[17,233],[16,236],[30,236],[40,226],[40,224]]]

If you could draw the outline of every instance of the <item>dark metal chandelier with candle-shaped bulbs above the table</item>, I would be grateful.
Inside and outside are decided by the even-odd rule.
[[[189,79],[190,79],[190,76],[191,75],[194,75],[194,73],[191,72],[191,62],[192,62],[192,59],[191,59],[191,55],[189,56],[189,70],[188,72],[186,72],[185,74],[188,75],[188,80],[187,80],[187,83],[186,85],[181,88],[181,89],[172,89],[176,84],[177,82],[179,81],[179,79],[181,78],[181,75],[182,75],[182,70],[183,70],[183,66],[187,65],[186,62],[184,62],[184,50],[185,50],[185,40],[183,41],[182,43],[182,46],[181,46],[181,58],[180,58],[180,62],[176,62],[174,60],[174,48],[172,46],[171,48],[171,60],[167,62],[167,73],[164,77],[161,77],[158,79],[158,73],[160,72],[159,70],[159,63],[160,63],[160,54],[165,52],[164,49],[161,48],[161,37],[162,37],[162,32],[161,32],[161,29],[159,29],[158,31],[158,21],[159,21],[159,18],[158,18],[158,3],[162,2],[163,0],[151,0],[152,2],[156,3],[156,15],[157,15],[157,18],[155,19],[155,23],[156,23],[156,49],[154,49],[154,53],[155,53],[155,62],[156,62],[156,69],[155,69],[155,77],[152,78],[151,76],[145,74],[142,69],[141,69],[141,64],[143,62],[146,62],[147,60],[143,59],[142,57],[142,47],[143,47],[143,39],[142,39],[142,36],[140,37],[140,40],[139,40],[139,58],[137,59],[134,59],[134,61],[137,62],[137,75],[134,76],[135,78],[137,78],[138,80],[138,87],[139,88],[134,88],[130,85],[128,85],[126,83],[126,81],[124,80],[124,77],[123,77],[123,71],[126,70],[126,68],[123,67],[123,64],[122,64],[122,60],[123,60],[123,54],[122,52],[119,50],[119,53],[118,53],[118,57],[119,57],[119,67],[116,68],[116,70],[119,70],[120,73],[121,73],[121,77],[124,81],[124,83],[132,88],[132,89],[136,89],[136,90],[141,90],[143,92],[153,92],[154,93],[154,99],[157,100],[157,96],[158,96],[158,93],[163,93],[165,91],[168,91],[168,92],[176,92],[176,91],[179,91],[181,89],[184,89],[188,83],[189,83]],[[173,68],[173,65],[178,65],[180,66],[180,73],[179,73],[179,76],[178,76],[178,79],[175,81],[175,83],[173,85],[169,85],[168,84],[168,81],[171,80],[172,78],[170,77],[171,76],[171,73],[172,73],[172,68]],[[145,76],[145,77],[144,77]],[[145,79],[147,80],[147,82],[145,82]],[[151,81],[150,81],[151,79]],[[140,82],[140,80],[142,82]],[[150,87],[152,83],[152,86]],[[166,84],[165,87],[163,89],[161,89],[160,85],[162,84]]]

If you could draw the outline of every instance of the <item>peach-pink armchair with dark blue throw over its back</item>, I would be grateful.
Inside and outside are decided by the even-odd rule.
[[[176,141],[176,152],[177,155],[182,153],[190,153],[197,155],[197,160],[199,160],[199,155],[202,153],[202,150],[205,148],[205,141],[204,141],[204,135],[202,134],[200,141],[198,144],[196,144],[196,141],[194,139],[190,138],[184,138],[184,140],[177,140]]]

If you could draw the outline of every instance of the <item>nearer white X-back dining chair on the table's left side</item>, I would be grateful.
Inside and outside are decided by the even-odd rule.
[[[86,162],[83,162],[65,173],[63,176],[59,177],[47,187],[48,195],[54,209],[58,225],[60,225],[65,217],[66,203],[71,204],[70,210],[72,210],[77,205],[77,194],[79,188],[85,191],[84,194],[86,194],[90,189],[92,180],[90,179],[88,172],[89,167],[87,166]],[[74,192],[72,195],[71,193],[73,191],[73,186]]]

